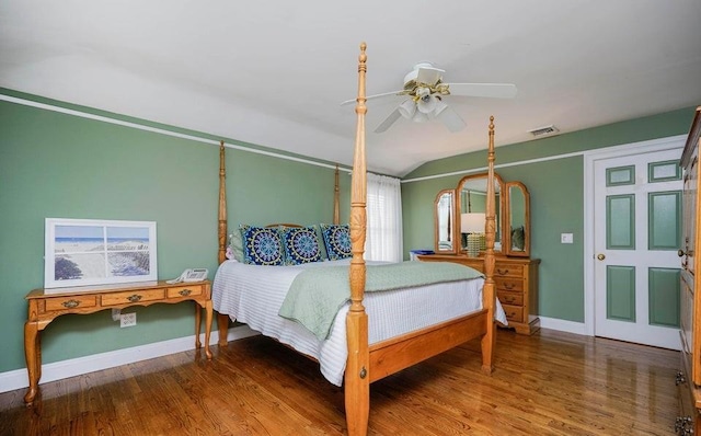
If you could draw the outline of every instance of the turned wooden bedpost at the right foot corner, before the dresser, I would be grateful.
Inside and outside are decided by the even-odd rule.
[[[494,325],[495,286],[494,286],[494,240],[496,233],[496,213],[494,193],[494,116],[490,116],[490,142],[487,149],[486,176],[486,252],[484,255],[484,289],[482,303],[487,310],[486,334],[482,337],[482,372],[492,374],[494,364],[494,346],[496,344],[496,326]]]

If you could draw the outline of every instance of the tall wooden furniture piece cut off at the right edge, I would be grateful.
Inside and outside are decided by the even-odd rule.
[[[675,423],[678,435],[701,432],[701,283],[696,276],[699,256],[696,248],[701,234],[699,207],[699,135],[701,133],[701,107],[697,108],[691,130],[681,154],[683,171],[683,218],[681,257],[681,363],[676,383],[679,388],[679,416]],[[700,290],[697,292],[697,290]]]

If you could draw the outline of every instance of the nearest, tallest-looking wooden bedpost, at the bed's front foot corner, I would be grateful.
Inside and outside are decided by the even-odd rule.
[[[355,106],[357,128],[350,186],[350,309],[346,317],[348,362],[345,371],[345,405],[348,435],[366,435],[370,412],[370,375],[368,351],[368,315],[363,306],[365,292],[365,261],[367,175],[365,161],[365,73],[366,44],[360,44],[358,57],[358,97]]]

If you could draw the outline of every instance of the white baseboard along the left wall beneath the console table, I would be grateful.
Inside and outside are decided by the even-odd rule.
[[[260,334],[249,329],[248,325],[239,325],[229,329],[227,341],[235,341],[243,337]],[[200,341],[204,342],[204,334]],[[209,336],[209,344],[216,345],[219,341],[219,332],[212,331]],[[115,349],[113,352],[93,354],[74,359],[54,362],[42,365],[42,380],[39,385],[49,381],[61,380],[69,377],[81,376],[83,374],[114,368],[115,366],[133,364],[135,362],[152,359],[193,349],[195,346],[195,335],[179,337],[175,340],[157,342],[153,344],[139,345],[130,348]],[[13,391],[30,386],[26,368],[0,372],[0,392]]]

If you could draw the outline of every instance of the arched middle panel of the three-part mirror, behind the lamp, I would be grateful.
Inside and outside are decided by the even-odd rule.
[[[462,179],[459,186],[460,192],[460,248],[467,251],[470,256],[479,255],[485,250],[486,240],[484,237],[485,213],[486,213],[486,174],[468,175]],[[495,174],[495,210],[496,210],[496,234],[494,251],[502,251],[502,180]]]

